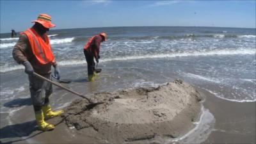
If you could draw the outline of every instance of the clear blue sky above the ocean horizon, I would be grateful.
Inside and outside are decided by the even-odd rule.
[[[1,33],[24,31],[39,13],[54,29],[113,26],[255,28],[254,1],[1,1]]]

